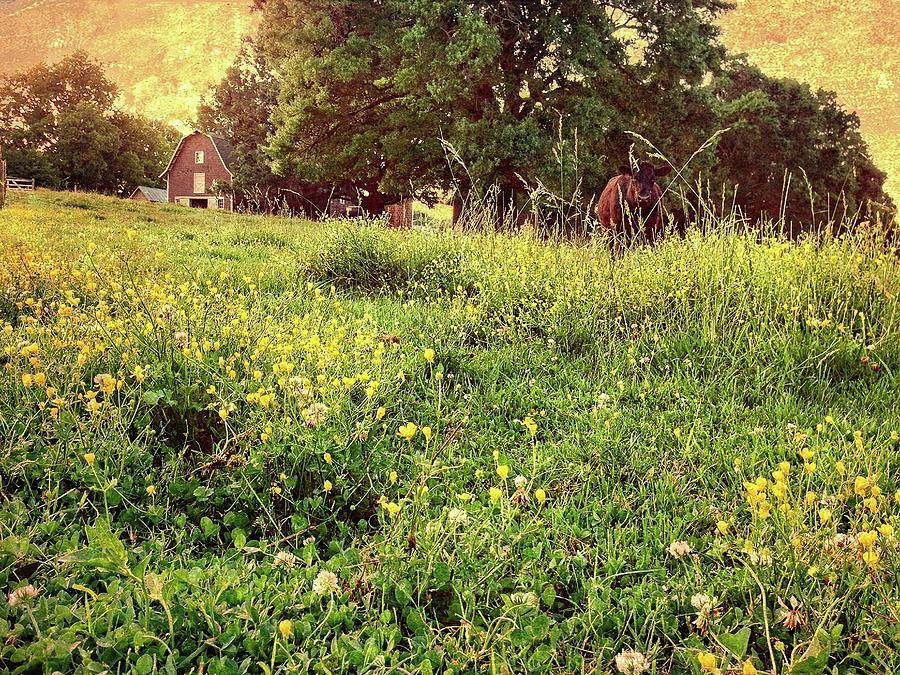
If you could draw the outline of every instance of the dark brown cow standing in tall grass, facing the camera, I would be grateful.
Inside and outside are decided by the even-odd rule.
[[[642,237],[653,243],[662,232],[662,190],[654,181],[666,176],[671,166],[640,162],[633,172],[619,167],[619,175],[606,184],[597,202],[597,217],[613,237],[614,248]]]

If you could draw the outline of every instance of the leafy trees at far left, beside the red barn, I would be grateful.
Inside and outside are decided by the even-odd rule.
[[[116,110],[116,96],[102,66],[83,52],[0,80],[9,173],[110,194],[157,184],[177,133]]]

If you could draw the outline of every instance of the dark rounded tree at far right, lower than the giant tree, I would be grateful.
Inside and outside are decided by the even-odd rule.
[[[747,216],[777,220],[783,212],[797,231],[845,208],[893,210],[859,118],[834,92],[769,77],[743,59],[726,65],[713,90],[720,124],[731,128],[717,146],[717,172],[737,186]]]

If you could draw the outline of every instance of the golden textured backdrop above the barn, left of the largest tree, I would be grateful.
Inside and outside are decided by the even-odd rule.
[[[127,107],[185,128],[250,32],[237,0],[0,0],[0,74],[84,49]]]

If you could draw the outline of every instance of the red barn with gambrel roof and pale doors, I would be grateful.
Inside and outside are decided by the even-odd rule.
[[[230,190],[213,191],[213,183],[231,185],[231,144],[220,136],[194,131],[181,139],[160,178],[166,179],[167,201],[200,209],[234,208]]]

